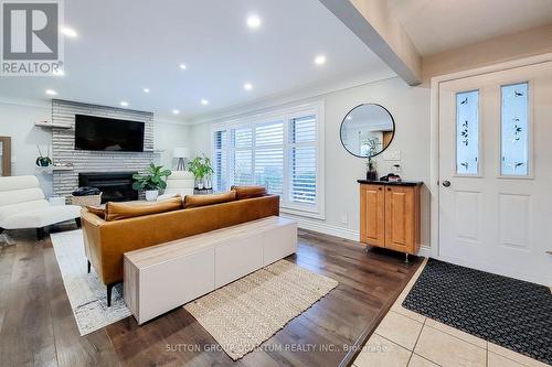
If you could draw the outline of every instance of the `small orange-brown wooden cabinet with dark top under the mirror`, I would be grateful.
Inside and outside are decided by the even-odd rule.
[[[401,251],[420,249],[421,182],[360,183],[360,241]]]

